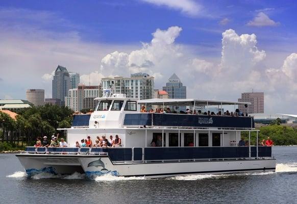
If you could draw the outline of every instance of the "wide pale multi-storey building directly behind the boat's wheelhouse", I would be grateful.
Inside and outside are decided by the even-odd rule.
[[[129,98],[149,99],[154,97],[154,77],[150,77],[146,73],[134,73],[130,78],[103,78],[101,85],[102,89],[114,87],[114,93],[123,93]]]

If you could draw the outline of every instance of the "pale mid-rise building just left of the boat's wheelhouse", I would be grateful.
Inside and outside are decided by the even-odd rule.
[[[69,89],[68,96],[65,97],[65,106],[73,111],[82,109],[94,109],[96,106],[95,98],[100,97],[99,86],[79,85],[76,89]]]

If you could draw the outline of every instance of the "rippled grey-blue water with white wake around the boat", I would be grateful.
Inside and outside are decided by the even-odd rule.
[[[0,154],[0,203],[297,203],[297,147],[273,147],[277,172],[188,175],[167,179],[86,180],[42,173],[26,177],[17,158]]]

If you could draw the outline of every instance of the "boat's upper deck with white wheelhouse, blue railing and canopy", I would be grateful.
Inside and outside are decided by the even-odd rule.
[[[124,128],[124,127],[171,127],[185,129],[254,129],[254,118],[248,116],[229,116],[221,114],[178,114],[178,113],[140,113],[140,105],[146,107],[182,107],[187,106],[192,111],[204,108],[207,112],[211,107],[216,107],[223,112],[225,106],[234,109],[237,101],[205,100],[205,99],[147,99],[137,100],[127,98],[125,94],[105,94],[98,100],[95,111],[91,115],[75,115],[72,128]],[[230,106],[232,106],[230,108]],[[177,110],[176,109],[176,110]],[[175,109],[172,109],[175,110]],[[173,112],[173,111],[172,111]]]

